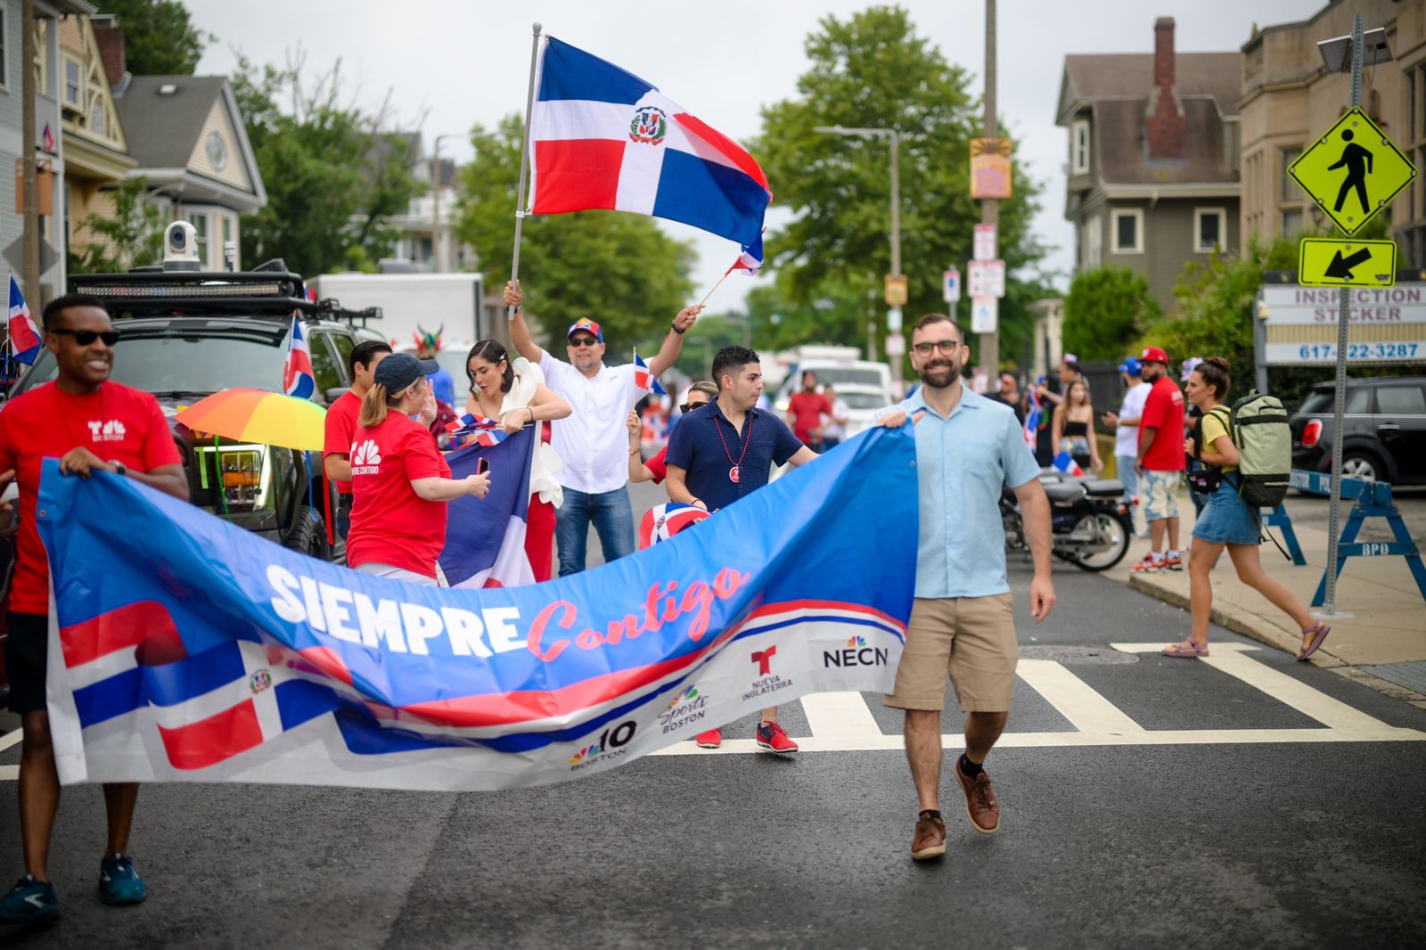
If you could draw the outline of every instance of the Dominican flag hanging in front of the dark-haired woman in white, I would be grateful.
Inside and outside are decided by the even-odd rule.
[[[451,502],[446,518],[446,546],[441,571],[452,588],[515,588],[535,583],[525,553],[525,525],[529,518],[530,458],[538,427],[526,427],[496,442],[476,442],[446,455],[451,478],[465,478],[491,466],[491,491],[485,498],[466,495]],[[483,435],[489,435],[485,432]]]

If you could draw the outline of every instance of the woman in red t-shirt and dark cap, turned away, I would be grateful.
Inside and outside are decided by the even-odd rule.
[[[365,573],[439,585],[436,558],[445,548],[445,502],[485,498],[491,476],[451,478],[431,431],[411,419],[435,399],[426,377],[435,359],[409,352],[376,365],[352,435],[352,529],[347,565]]]

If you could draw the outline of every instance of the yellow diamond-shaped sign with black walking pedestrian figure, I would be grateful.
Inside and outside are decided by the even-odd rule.
[[[1352,108],[1288,167],[1288,174],[1322,214],[1346,234],[1356,234],[1416,180],[1416,165],[1366,113]]]

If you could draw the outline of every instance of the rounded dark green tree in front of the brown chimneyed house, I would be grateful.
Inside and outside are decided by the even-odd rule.
[[[1128,267],[1079,271],[1065,297],[1064,348],[1081,359],[1119,359],[1162,315],[1148,280]]]

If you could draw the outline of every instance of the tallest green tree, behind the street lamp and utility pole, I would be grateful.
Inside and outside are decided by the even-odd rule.
[[[876,6],[844,20],[824,17],[807,37],[811,67],[797,96],[763,110],[753,145],[776,200],[796,218],[769,234],[781,310],[810,334],[799,342],[861,345],[866,291],[881,298],[890,271],[890,174],[886,138],[853,138],[819,126],[896,128],[900,133],[903,271],[910,282],[907,322],[944,311],[941,272],[971,255],[978,203],[970,197],[970,140],[981,107],[971,76],[918,36],[900,6]],[[1015,167],[1015,197],[1000,205],[1000,247],[1014,272],[1044,250],[1031,237],[1040,187]],[[868,277],[870,275],[870,277]],[[809,315],[819,300],[837,302]],[[878,338],[886,308],[876,305]],[[821,315],[823,320],[801,317]]]

